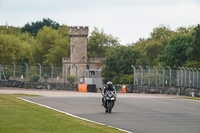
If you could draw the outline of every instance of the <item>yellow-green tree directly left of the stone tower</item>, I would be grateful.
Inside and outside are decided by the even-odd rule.
[[[37,44],[34,46],[35,62],[54,66],[62,65],[62,57],[69,57],[68,27],[62,26],[58,30],[44,26],[36,36]]]

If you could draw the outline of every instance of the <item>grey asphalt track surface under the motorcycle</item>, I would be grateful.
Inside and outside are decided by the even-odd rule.
[[[200,133],[200,102],[118,97],[105,113],[101,97],[31,97],[27,100],[134,133]]]

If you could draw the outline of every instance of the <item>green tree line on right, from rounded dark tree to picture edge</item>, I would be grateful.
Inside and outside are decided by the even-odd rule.
[[[135,43],[111,49],[104,60],[104,82],[132,84],[131,65],[200,68],[200,25],[178,27],[175,31],[160,25],[147,39],[140,38]]]

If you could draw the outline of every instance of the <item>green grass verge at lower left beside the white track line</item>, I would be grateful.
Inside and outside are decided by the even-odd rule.
[[[47,109],[16,97],[34,95],[0,94],[0,133],[117,133],[108,126]]]

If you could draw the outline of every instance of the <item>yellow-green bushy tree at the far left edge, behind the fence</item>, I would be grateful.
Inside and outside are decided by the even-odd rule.
[[[31,63],[32,45],[35,39],[28,33],[21,33],[20,28],[12,26],[0,26],[0,55],[1,62],[10,64]]]

